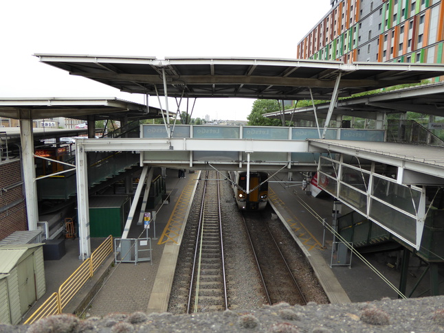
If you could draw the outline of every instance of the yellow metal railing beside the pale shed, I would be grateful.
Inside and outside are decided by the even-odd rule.
[[[94,272],[111,253],[113,253],[113,236],[108,236],[108,238],[91,253],[91,257],[85,260],[85,262],[82,262],[76,271],[60,285],[58,292],[54,292],[49,296],[24,324],[32,324],[38,319],[62,313],[67,303],[69,303],[78,290],[93,277]]]

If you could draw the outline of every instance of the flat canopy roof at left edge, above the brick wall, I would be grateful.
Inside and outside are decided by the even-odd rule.
[[[166,114],[166,113],[164,113]],[[87,120],[88,115],[101,119],[152,119],[162,117],[161,109],[115,97],[23,97],[0,98],[0,117],[45,119],[69,117]],[[174,116],[174,113],[170,113]]]

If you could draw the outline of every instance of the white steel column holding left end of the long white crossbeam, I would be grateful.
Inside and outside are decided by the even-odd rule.
[[[77,179],[77,214],[79,259],[85,260],[91,255],[89,235],[89,198],[88,198],[88,163],[83,145],[76,144],[76,179]]]

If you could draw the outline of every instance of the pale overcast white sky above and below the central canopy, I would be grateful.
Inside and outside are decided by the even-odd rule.
[[[33,54],[297,58],[298,42],[329,8],[330,0],[3,0],[0,98],[118,97],[143,103],[142,95],[69,76]],[[193,117],[246,119],[253,102],[198,99]],[[150,105],[158,106],[157,97]]]

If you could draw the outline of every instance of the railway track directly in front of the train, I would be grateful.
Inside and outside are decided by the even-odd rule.
[[[269,304],[281,301],[291,305],[307,304],[293,271],[280,251],[278,242],[269,230],[263,214],[244,214],[243,220]]]

